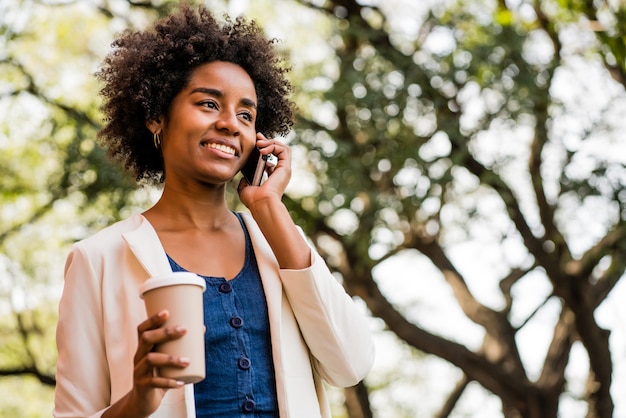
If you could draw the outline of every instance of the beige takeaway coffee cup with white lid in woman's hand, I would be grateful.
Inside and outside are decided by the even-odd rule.
[[[148,316],[167,309],[170,316],[164,326],[182,325],[187,334],[181,338],[156,346],[156,351],[189,358],[189,366],[181,369],[161,367],[158,374],[185,383],[204,379],[204,307],[202,293],[204,280],[194,273],[174,272],[146,280],[139,295],[146,305]]]

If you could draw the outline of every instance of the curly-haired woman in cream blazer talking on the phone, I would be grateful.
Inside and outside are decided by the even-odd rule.
[[[323,382],[358,383],[373,345],[365,317],[281,201],[289,147],[257,133],[292,125],[273,42],[253,22],[219,24],[203,7],[181,6],[113,47],[98,73],[100,137],[163,192],[68,256],[54,416],[330,417]],[[240,181],[249,214],[236,213],[225,190],[255,147],[277,163],[260,186]],[[167,311],[146,319],[138,293],[171,271],[207,284],[207,377],[196,385],[155,373],[188,364],[153,351],[186,330],[163,326]]]

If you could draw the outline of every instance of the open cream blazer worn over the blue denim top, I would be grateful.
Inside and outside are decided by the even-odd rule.
[[[267,298],[281,418],[330,418],[323,381],[357,384],[374,349],[369,322],[317,252],[305,270],[281,270],[243,214]],[[132,388],[139,286],[171,272],[156,231],[139,214],[76,243],[67,258],[57,325],[56,418],[99,417]],[[194,418],[193,385],[169,390],[153,418]]]

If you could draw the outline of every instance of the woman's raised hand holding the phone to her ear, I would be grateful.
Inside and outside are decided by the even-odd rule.
[[[250,186],[243,178],[239,182],[237,188],[239,199],[250,209],[255,203],[265,199],[282,199],[291,179],[291,149],[289,146],[276,139],[267,139],[261,133],[257,133],[257,139],[256,146],[261,151],[261,155],[273,154],[278,162],[274,166],[266,165],[268,177],[260,186]]]

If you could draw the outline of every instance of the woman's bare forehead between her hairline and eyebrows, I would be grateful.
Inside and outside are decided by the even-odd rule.
[[[256,101],[256,89],[250,75],[237,64],[215,61],[200,65],[193,70],[188,89],[218,88],[224,93],[238,94]]]

